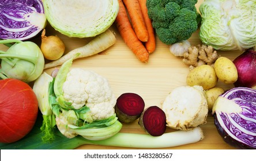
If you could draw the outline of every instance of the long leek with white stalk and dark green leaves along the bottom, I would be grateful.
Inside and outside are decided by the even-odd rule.
[[[195,143],[204,139],[202,129],[196,127],[190,131],[174,131],[164,133],[161,136],[151,136],[149,134],[138,133],[117,133],[116,135],[104,140],[88,140],[82,136],[76,136],[69,139],[62,135],[61,132],[55,128],[55,139],[51,143],[42,141],[44,133],[40,131],[42,125],[42,116],[37,118],[37,122],[28,134],[23,139],[15,143],[3,144],[0,143],[1,150],[71,150],[81,145],[105,145],[117,146],[127,148],[168,148],[179,145]]]

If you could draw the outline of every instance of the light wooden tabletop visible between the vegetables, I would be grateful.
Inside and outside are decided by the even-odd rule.
[[[197,8],[202,1],[198,1]],[[112,47],[100,54],[86,58],[74,60],[73,68],[85,68],[93,70],[98,74],[106,77],[112,87],[116,97],[122,93],[132,92],[141,95],[145,101],[145,106],[161,106],[165,97],[172,89],[186,85],[186,76],[189,72],[189,67],[182,63],[182,57],[175,57],[169,51],[169,45],[161,43],[159,39],[156,42],[156,51],[150,54],[148,63],[141,63],[126,46],[121,36],[116,30],[115,25],[111,26],[116,33],[117,42]],[[189,41],[191,45],[201,44],[198,37],[199,30],[194,32]],[[46,27],[46,35],[51,34],[61,37],[66,45],[65,53],[72,49],[81,47],[91,40],[70,38],[63,36],[55,31],[50,24]],[[40,37],[33,39],[37,44],[40,44]],[[0,44],[0,50],[5,51],[7,47]],[[240,55],[241,51],[217,51],[221,56],[226,56],[231,60]],[[49,74],[54,68],[46,70]],[[217,86],[223,87],[225,90],[231,89],[233,85],[224,85],[218,82]],[[165,149],[234,149],[225,143],[216,127],[214,126],[212,115],[208,114],[207,123],[202,125],[204,132],[204,140],[197,143],[181,145]],[[167,132],[173,131],[167,128]],[[127,133],[145,133],[138,125],[138,121],[131,124],[123,124],[121,132]],[[172,138],[170,138],[172,139]],[[82,145],[77,149],[130,149],[123,147],[108,147],[101,145]]]

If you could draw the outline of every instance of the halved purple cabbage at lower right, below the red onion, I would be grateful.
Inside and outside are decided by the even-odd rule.
[[[256,90],[235,87],[213,106],[214,124],[223,140],[236,148],[256,149]]]

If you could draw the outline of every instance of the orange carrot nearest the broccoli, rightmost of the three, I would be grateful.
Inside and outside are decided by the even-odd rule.
[[[145,47],[149,53],[152,53],[156,49],[156,37],[155,37],[155,30],[152,26],[152,21],[148,17],[148,8],[146,7],[146,0],[138,0],[141,7],[142,16],[144,18],[144,22],[146,25],[146,29],[148,30],[148,41],[145,42]]]

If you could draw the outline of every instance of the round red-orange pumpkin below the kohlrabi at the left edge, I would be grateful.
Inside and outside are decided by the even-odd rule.
[[[36,122],[38,102],[32,88],[18,79],[0,80],[0,142],[13,143]]]

